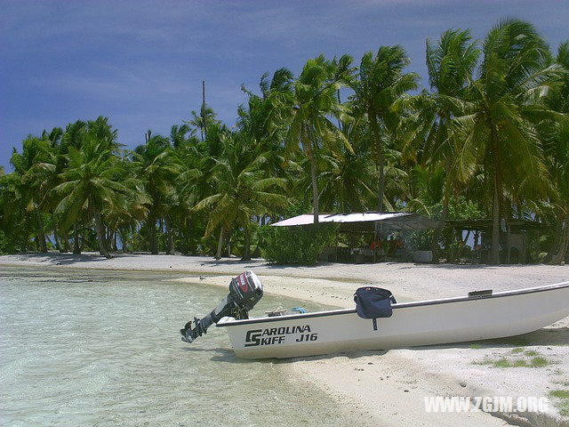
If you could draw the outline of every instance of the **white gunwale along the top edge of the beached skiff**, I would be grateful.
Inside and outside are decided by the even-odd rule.
[[[515,289],[510,291],[501,291],[495,294],[488,294],[488,295],[477,295],[477,296],[455,296],[451,298],[440,298],[437,300],[424,300],[424,301],[416,301],[416,302],[397,302],[393,304],[391,307],[393,310],[397,309],[406,309],[412,307],[421,307],[426,305],[437,305],[437,304],[445,304],[450,302],[467,302],[467,301],[479,301],[479,300],[492,300],[493,298],[501,298],[506,296],[516,296],[522,294],[537,294],[540,292],[547,292],[553,291],[557,289],[563,289],[565,287],[569,287],[569,281],[556,283],[553,285],[544,285],[544,286],[534,286],[534,287],[526,287],[523,289]],[[249,325],[254,323],[266,323],[266,322],[278,322],[284,320],[297,320],[297,319],[304,319],[304,318],[321,318],[326,316],[337,316],[343,314],[353,314],[356,313],[357,310],[354,309],[336,309],[336,310],[324,310],[324,311],[315,311],[313,313],[299,313],[299,314],[286,314],[284,316],[274,316],[274,317],[264,317],[264,318],[243,318],[240,320],[236,320],[235,318],[221,318],[220,322],[217,323],[216,327],[229,327],[229,326],[242,326],[242,325]],[[226,320],[227,319],[227,320]]]

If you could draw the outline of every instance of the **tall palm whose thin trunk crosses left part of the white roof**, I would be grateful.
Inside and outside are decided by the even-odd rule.
[[[336,74],[334,64],[323,55],[308,60],[301,75],[293,83],[292,121],[287,134],[291,149],[302,149],[310,160],[314,223],[318,224],[317,156],[322,146],[331,147],[341,141],[348,149],[349,141],[333,125],[330,117],[346,116],[346,108],[338,101],[337,91],[348,81],[346,74]]]

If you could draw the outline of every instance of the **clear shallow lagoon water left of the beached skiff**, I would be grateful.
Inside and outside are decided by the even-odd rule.
[[[324,392],[284,375],[288,362],[236,359],[222,328],[181,342],[180,327],[228,291],[176,277],[0,271],[0,425],[349,424]],[[265,295],[252,315],[278,305],[301,304]]]

